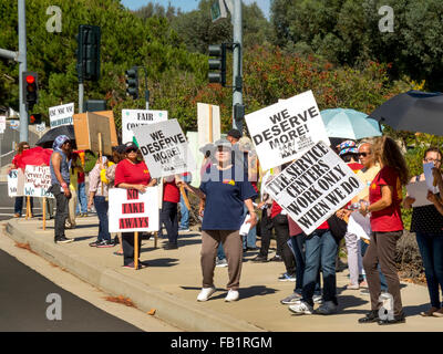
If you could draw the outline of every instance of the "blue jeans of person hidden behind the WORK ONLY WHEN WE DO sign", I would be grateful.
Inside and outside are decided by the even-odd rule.
[[[318,272],[323,277],[323,302],[337,304],[336,256],[337,242],[330,230],[316,230],[306,237],[302,301],[313,306]]]

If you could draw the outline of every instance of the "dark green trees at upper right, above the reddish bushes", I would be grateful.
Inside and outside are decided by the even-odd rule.
[[[382,6],[394,13],[394,32],[380,32]],[[280,46],[310,50],[337,64],[368,60],[392,63],[393,77],[426,80],[442,90],[441,0],[272,0],[272,27]]]

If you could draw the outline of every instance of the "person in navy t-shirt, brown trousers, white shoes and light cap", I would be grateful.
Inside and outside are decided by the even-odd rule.
[[[199,189],[185,185],[204,201],[202,222],[202,272],[203,289],[197,301],[207,301],[215,292],[214,269],[217,248],[222,242],[228,261],[229,290],[225,301],[239,298],[238,288],[241,273],[243,240],[239,233],[244,222],[244,205],[249,211],[250,227],[257,225],[253,199],[257,197],[253,185],[245,176],[243,166],[231,159],[231,145],[226,139],[215,143],[216,164],[209,166],[202,177]]]

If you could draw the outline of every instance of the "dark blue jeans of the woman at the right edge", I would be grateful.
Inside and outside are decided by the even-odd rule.
[[[423,259],[431,306],[443,308],[439,293],[439,284],[443,291],[443,235],[416,232],[416,243]]]

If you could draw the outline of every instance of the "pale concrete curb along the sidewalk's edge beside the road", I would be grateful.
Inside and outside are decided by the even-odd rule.
[[[86,263],[81,254],[48,243],[34,235],[25,235],[17,220],[9,220],[6,231],[17,242],[29,243],[32,251],[48,261],[112,295],[130,298],[142,311],[155,309],[155,315],[171,324],[190,332],[262,332],[246,321],[198,308],[195,303],[177,299],[169,293],[136,282],[110,269]]]

